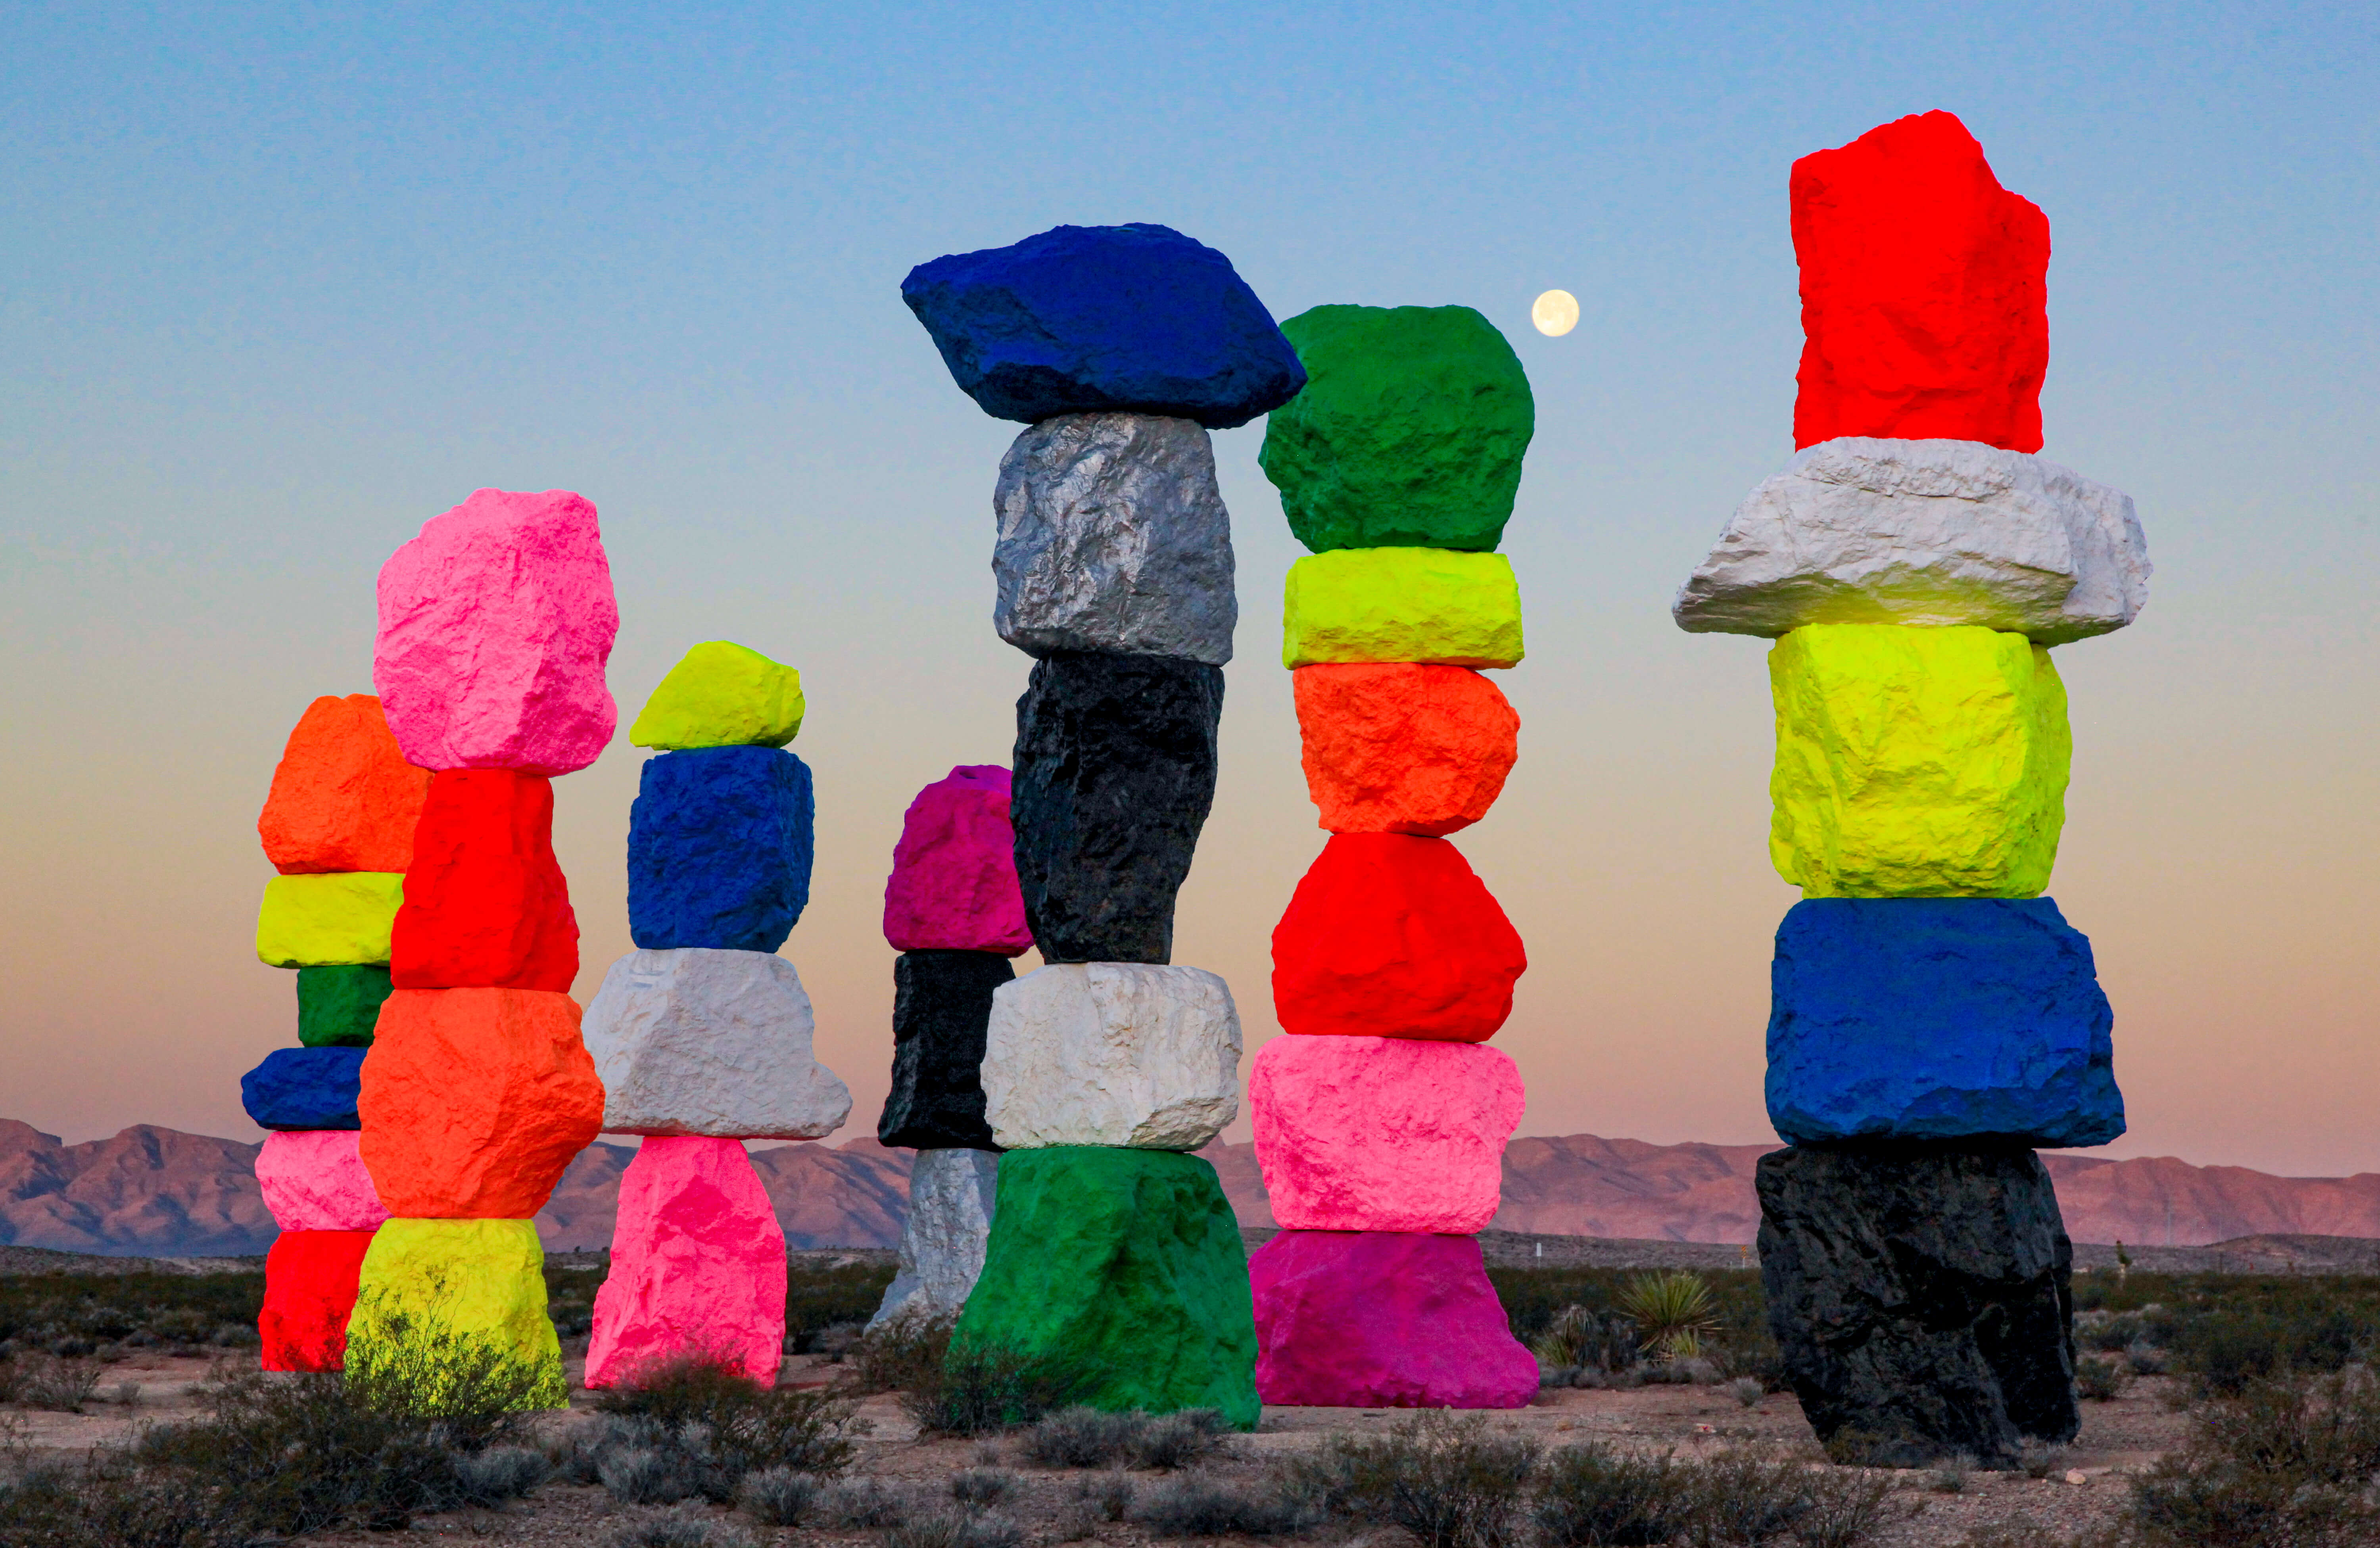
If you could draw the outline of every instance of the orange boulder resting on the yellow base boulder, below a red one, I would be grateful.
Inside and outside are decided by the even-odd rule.
[[[602,1129],[578,1003],[400,988],[364,1055],[364,1169],[400,1219],[528,1219]]]

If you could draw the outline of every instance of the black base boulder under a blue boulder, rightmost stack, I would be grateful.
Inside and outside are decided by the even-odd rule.
[[[2071,1441],[2073,1246],[2021,1148],[1761,1157],[1768,1329],[1821,1441],[1916,1467]]]

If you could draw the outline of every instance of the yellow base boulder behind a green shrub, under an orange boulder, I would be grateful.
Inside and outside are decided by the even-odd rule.
[[[545,1248],[528,1219],[390,1219],[364,1253],[347,1379],[483,1386],[512,1407],[566,1407],[545,1315]]]

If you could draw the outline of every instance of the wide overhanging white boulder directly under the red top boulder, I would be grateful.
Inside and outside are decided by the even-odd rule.
[[[1980,624],[2063,645],[2149,595],[2132,498],[1980,441],[1823,441],[1735,510],[1671,614],[1695,633]]]

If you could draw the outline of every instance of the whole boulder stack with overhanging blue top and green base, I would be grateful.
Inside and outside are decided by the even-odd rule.
[[[959,1350],[1059,1357],[1097,1407],[1259,1403],[1245,1253],[1214,1167],[1238,1112],[1223,979],[1173,967],[1214,800],[1238,622],[1207,431],[1304,386],[1230,260],[1166,226],[1059,226],[919,264],[902,300],[959,386],[1028,424],[1000,464],[1012,819],[1047,967],[992,991],[981,1067],[997,1212]]]

